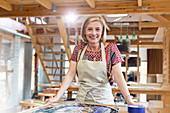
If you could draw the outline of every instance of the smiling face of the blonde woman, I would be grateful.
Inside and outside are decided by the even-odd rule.
[[[85,29],[85,35],[89,43],[99,43],[103,32],[103,25],[100,21],[91,22]]]

